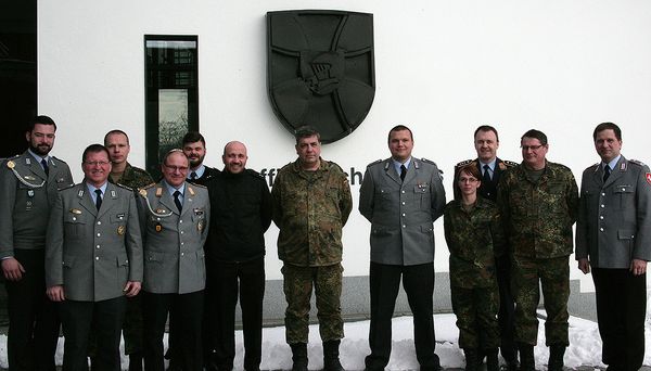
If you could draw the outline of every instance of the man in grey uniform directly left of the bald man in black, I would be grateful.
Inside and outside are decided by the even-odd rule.
[[[163,158],[163,180],[140,191],[144,212],[144,368],[164,371],[163,335],[167,315],[174,327],[176,366],[203,367],[202,318],[210,201],[203,186],[188,183],[189,161],[181,150]]]

